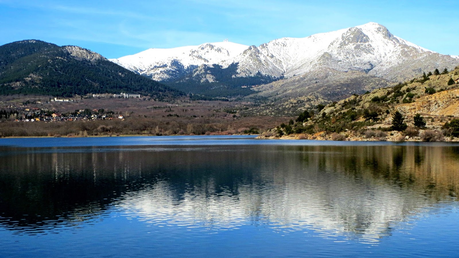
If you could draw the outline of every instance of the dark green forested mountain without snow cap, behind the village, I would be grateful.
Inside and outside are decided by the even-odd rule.
[[[0,94],[53,96],[143,93],[156,99],[182,95],[79,46],[22,40],[0,46]]]

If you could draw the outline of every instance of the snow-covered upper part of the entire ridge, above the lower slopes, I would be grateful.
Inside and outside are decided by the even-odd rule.
[[[339,72],[362,71],[391,81],[404,81],[421,71],[451,69],[459,64],[458,56],[441,55],[417,46],[378,23],[306,38],[280,38],[260,46],[219,42],[149,49],[111,61],[160,81],[196,73],[199,66],[212,64],[227,68],[238,63],[237,73],[233,75],[236,77],[262,74],[288,79],[328,68]]]

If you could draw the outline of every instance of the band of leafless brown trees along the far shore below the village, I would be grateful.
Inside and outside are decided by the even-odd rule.
[[[101,135],[228,135],[250,133],[248,128],[263,132],[285,118],[243,117],[224,120],[217,118],[161,119],[129,117],[125,120],[79,120],[65,122],[0,122],[0,137],[39,136],[101,136]],[[252,130],[252,132],[254,132]]]

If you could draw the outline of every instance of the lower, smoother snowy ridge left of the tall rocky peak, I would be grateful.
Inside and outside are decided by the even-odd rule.
[[[153,80],[171,80],[202,64],[215,64],[234,58],[247,48],[245,45],[224,41],[169,49],[151,48],[110,61]]]

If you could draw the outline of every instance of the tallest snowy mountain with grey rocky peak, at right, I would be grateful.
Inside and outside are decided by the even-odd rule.
[[[458,60],[440,55],[392,35],[378,23],[314,34],[306,38],[281,38],[251,46],[224,61],[239,63],[238,76],[257,72],[285,78],[327,67],[358,70],[387,80],[405,80],[421,70],[453,68]]]

